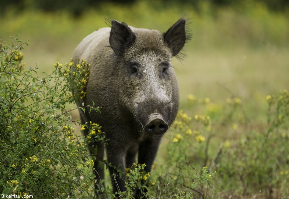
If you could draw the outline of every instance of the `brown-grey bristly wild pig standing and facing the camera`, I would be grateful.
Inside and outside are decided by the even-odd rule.
[[[179,54],[188,35],[186,19],[179,19],[165,33],[138,29],[124,22],[111,21],[85,37],[75,49],[73,59],[90,64],[85,98],[78,102],[101,106],[101,114],[80,110],[81,122],[99,123],[106,138],[107,162],[113,191],[125,191],[125,168],[136,162],[151,171],[163,134],[174,121],[179,108],[179,89],[173,56]],[[88,131],[84,130],[84,135]],[[98,161],[103,160],[102,143],[89,145],[97,182],[104,178]],[[118,173],[119,171],[122,174]],[[99,189],[99,187],[98,187]]]

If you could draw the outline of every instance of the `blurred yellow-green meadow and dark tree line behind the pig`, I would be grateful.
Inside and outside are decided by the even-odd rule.
[[[19,34],[22,41],[29,40],[23,50],[26,67],[37,64],[50,73],[55,62],[70,61],[86,35],[108,26],[104,18],[165,32],[182,16],[190,19],[193,38],[185,46],[187,56],[172,60],[180,109],[192,116],[198,111],[188,108],[189,94],[200,101],[210,99],[212,106],[238,97],[252,126],[261,131],[267,119],[266,96],[289,90],[287,0],[1,1],[0,39],[9,42],[9,36]],[[243,132],[238,133],[230,136],[239,140]],[[159,154],[165,153],[166,136]],[[225,130],[217,132],[211,151],[227,136]]]

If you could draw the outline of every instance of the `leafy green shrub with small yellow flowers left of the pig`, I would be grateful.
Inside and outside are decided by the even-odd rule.
[[[73,62],[63,69],[57,63],[52,74],[35,77],[37,67],[23,70],[21,50],[28,42],[12,39],[0,43],[0,192],[35,198],[89,196],[93,160],[66,110],[67,103],[85,94],[88,65],[80,62],[71,76]],[[82,81],[70,86],[73,76]],[[73,87],[79,91],[74,95]]]

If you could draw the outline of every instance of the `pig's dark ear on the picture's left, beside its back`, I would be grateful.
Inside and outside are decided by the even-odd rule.
[[[111,21],[110,30],[110,47],[115,54],[122,56],[133,42],[135,41],[135,35],[131,29],[125,24],[116,20]]]

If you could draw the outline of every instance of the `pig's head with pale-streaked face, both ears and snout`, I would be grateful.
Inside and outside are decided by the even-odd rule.
[[[185,24],[180,19],[161,33],[111,22],[110,47],[119,56],[119,106],[139,133],[165,133],[176,116],[179,91],[171,59],[186,42]]]

